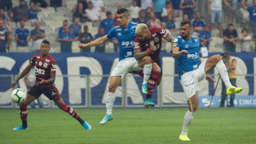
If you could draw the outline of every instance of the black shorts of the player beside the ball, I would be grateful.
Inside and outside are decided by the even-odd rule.
[[[59,93],[59,90],[57,88],[53,88],[53,89],[41,89],[38,87],[33,86],[28,92],[27,94],[32,95],[36,98],[40,97],[41,94],[44,94],[45,96],[47,96],[50,100],[58,100],[61,98],[61,95]]]

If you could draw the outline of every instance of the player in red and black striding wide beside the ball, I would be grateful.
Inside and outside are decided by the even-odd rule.
[[[22,125],[13,128],[13,130],[28,129],[27,105],[37,99],[42,93],[50,100],[53,100],[60,109],[75,118],[85,129],[92,129],[92,127],[84,120],[82,120],[71,107],[64,103],[58,89],[54,85],[56,75],[56,61],[50,54],[48,54],[50,51],[50,42],[43,40],[40,46],[40,50],[41,54],[32,56],[28,66],[21,72],[20,76],[10,86],[10,88],[15,87],[18,81],[24,77],[32,67],[35,67],[35,85],[27,92],[24,102],[20,104],[20,116]]]

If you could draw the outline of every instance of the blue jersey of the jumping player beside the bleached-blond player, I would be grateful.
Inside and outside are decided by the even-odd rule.
[[[134,39],[136,37],[135,29],[137,25],[137,23],[129,22],[128,27],[116,26],[107,34],[107,38],[116,37],[118,40],[119,61],[127,57],[134,57]]]

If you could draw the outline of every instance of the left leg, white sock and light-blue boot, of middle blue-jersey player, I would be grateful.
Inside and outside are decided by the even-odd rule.
[[[100,125],[107,124],[108,121],[113,120],[112,109],[115,102],[115,90],[118,85],[121,83],[122,78],[119,76],[110,77],[109,85],[108,85],[108,93],[106,98],[106,109],[107,113],[105,117],[101,120]]]

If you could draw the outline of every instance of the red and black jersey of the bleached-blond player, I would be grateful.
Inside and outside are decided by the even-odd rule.
[[[151,37],[147,40],[139,40],[138,37],[134,40],[134,50],[141,50],[142,52],[147,51],[149,49],[150,44],[154,44],[156,49],[149,54],[151,59],[153,60],[160,60],[160,51],[162,47],[162,38],[166,38],[169,36],[169,33],[166,32],[161,27],[150,27],[149,32],[151,33]]]

